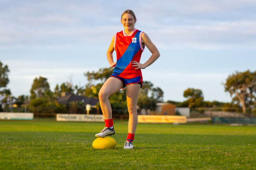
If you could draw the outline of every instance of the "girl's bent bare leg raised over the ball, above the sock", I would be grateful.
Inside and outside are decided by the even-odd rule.
[[[104,119],[112,119],[112,109],[109,97],[110,95],[117,93],[122,87],[122,81],[115,77],[110,77],[104,85],[102,85],[99,92],[99,100]]]

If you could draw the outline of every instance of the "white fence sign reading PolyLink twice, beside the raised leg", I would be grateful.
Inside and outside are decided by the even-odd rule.
[[[56,114],[57,121],[89,121],[104,122],[103,115],[96,114]]]

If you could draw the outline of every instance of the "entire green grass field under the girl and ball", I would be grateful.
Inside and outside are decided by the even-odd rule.
[[[138,124],[114,121],[114,149],[92,147],[104,123],[0,121],[0,170],[255,170],[256,126]]]

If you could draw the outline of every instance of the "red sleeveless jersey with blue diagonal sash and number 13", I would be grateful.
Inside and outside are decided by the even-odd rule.
[[[134,29],[129,35],[124,31],[115,34],[114,48],[117,55],[117,64],[113,73],[122,78],[135,78],[141,76],[140,69],[132,67],[131,61],[140,61],[140,57],[144,48],[141,44],[141,34],[143,32]]]

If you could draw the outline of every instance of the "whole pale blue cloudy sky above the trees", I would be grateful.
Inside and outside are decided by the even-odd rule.
[[[12,95],[29,95],[39,76],[53,90],[84,86],[85,72],[108,68],[106,51],[126,9],[161,54],[142,74],[164,101],[182,102],[196,88],[205,101],[231,102],[228,76],[256,70],[256,0],[0,0],[0,61]],[[150,56],[146,49],[141,63]]]

